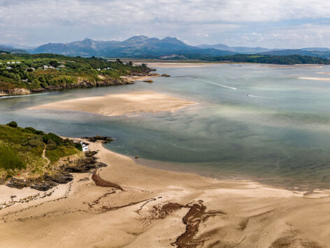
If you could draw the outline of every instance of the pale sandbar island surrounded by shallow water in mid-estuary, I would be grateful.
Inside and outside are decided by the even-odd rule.
[[[59,101],[29,109],[71,110],[92,112],[106,116],[119,116],[139,114],[141,112],[174,112],[194,104],[195,103],[192,101],[186,101],[156,92],[132,92],[128,94],[110,94],[106,96]]]

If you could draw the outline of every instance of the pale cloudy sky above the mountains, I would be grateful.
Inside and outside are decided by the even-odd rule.
[[[330,48],[329,0],[0,0],[0,43],[177,37],[189,45]]]

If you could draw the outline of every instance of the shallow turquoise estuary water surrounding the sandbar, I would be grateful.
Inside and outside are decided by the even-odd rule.
[[[330,81],[299,79],[330,78],[319,74],[329,72],[329,66],[227,64],[157,71],[171,78],[155,78],[151,85],[0,99],[0,123],[15,120],[63,136],[112,136],[116,141],[106,145],[108,149],[140,156],[158,168],[330,189]],[[141,90],[199,104],[138,117],[26,110],[53,101]]]

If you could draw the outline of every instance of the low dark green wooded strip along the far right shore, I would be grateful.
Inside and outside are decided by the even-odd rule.
[[[203,57],[207,61],[230,61],[240,63],[261,63],[261,64],[330,64],[330,60],[320,57],[301,56],[301,55],[253,55],[236,54],[220,57]]]

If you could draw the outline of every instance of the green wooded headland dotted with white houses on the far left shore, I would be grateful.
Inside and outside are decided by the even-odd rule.
[[[79,80],[96,84],[103,80],[122,80],[120,76],[148,73],[145,65],[107,61],[96,57],[65,57],[56,54],[0,54],[0,92],[29,89],[77,87]]]

